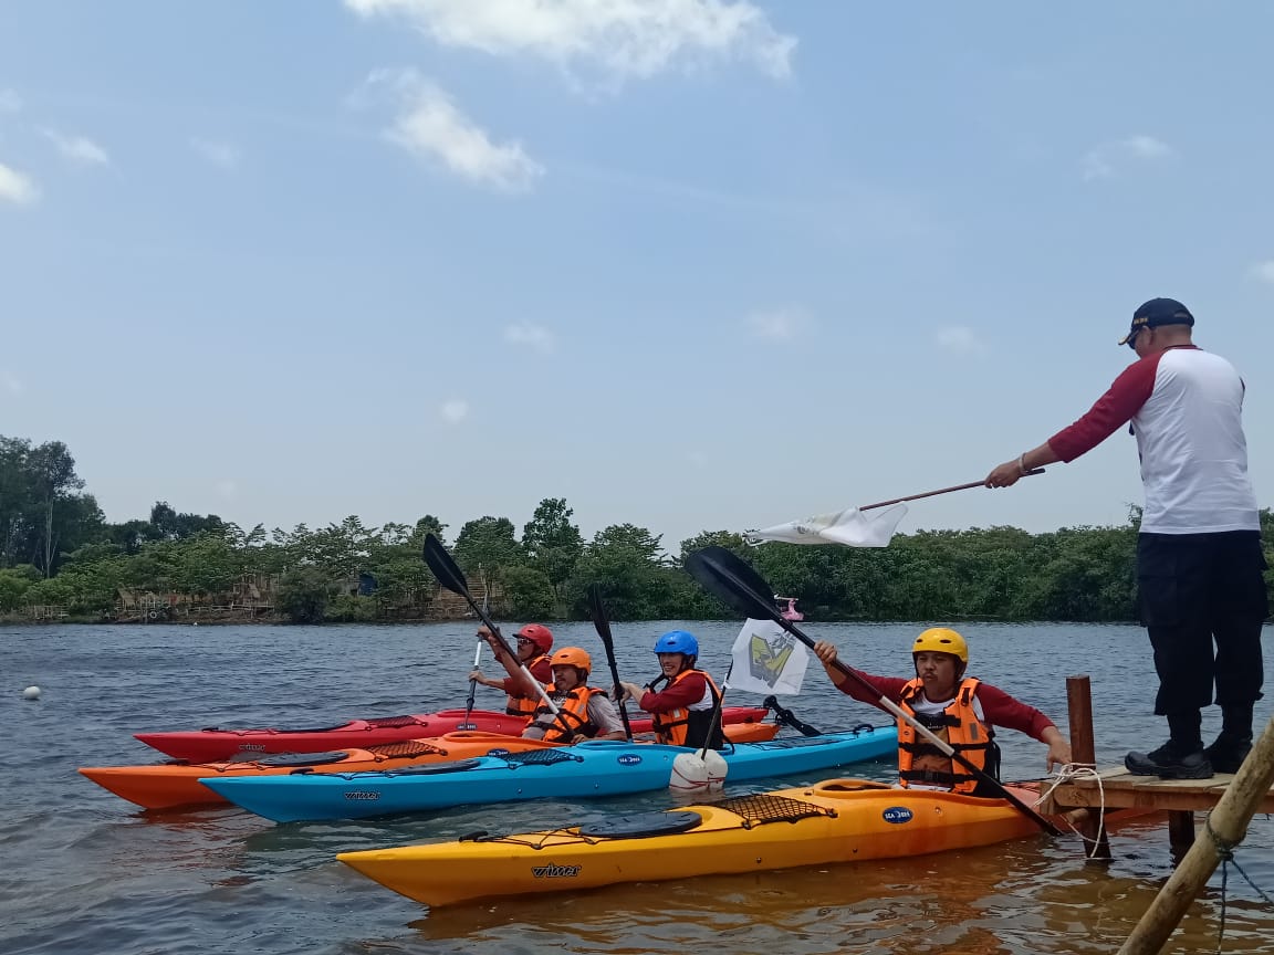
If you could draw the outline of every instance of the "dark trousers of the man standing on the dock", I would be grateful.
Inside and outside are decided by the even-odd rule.
[[[1142,534],[1136,578],[1159,691],[1154,712],[1261,698],[1261,625],[1269,616],[1259,531]],[[1215,649],[1214,649],[1215,647]]]

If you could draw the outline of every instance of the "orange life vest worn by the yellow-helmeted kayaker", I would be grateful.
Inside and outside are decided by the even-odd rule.
[[[995,775],[999,772],[999,746],[995,745],[995,732],[977,718],[973,709],[973,694],[977,691],[978,683],[972,676],[961,680],[956,690],[956,699],[936,717],[917,713],[911,705],[911,702],[924,689],[924,681],[919,677],[902,688],[898,703],[903,711],[964,759],[984,773]],[[944,755],[903,719],[898,721],[898,779],[903,786],[927,783],[949,788],[952,792],[981,795],[975,793],[980,782],[976,775]]]

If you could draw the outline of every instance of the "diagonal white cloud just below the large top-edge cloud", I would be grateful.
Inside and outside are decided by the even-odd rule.
[[[520,143],[497,145],[451,98],[413,70],[378,70],[368,84],[389,85],[401,111],[385,138],[413,155],[505,192],[529,190],[544,174]]]

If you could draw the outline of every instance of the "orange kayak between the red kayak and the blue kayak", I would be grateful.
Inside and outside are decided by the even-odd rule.
[[[725,733],[733,742],[764,742],[772,740],[777,732],[777,723],[727,723],[725,726]],[[144,809],[177,809],[225,802],[223,796],[201,784],[200,779],[404,769],[427,763],[448,763],[485,756],[492,750],[525,753],[536,749],[555,749],[557,746],[558,744],[524,740],[520,736],[459,731],[431,739],[386,742],[368,749],[283,753],[229,763],[85,767],[79,772],[116,796]]]

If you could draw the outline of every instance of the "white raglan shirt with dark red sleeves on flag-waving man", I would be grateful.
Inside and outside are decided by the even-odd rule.
[[[1145,486],[1143,534],[1259,531],[1242,411],[1235,367],[1178,345],[1125,368],[1049,446],[1069,463],[1131,421]]]

